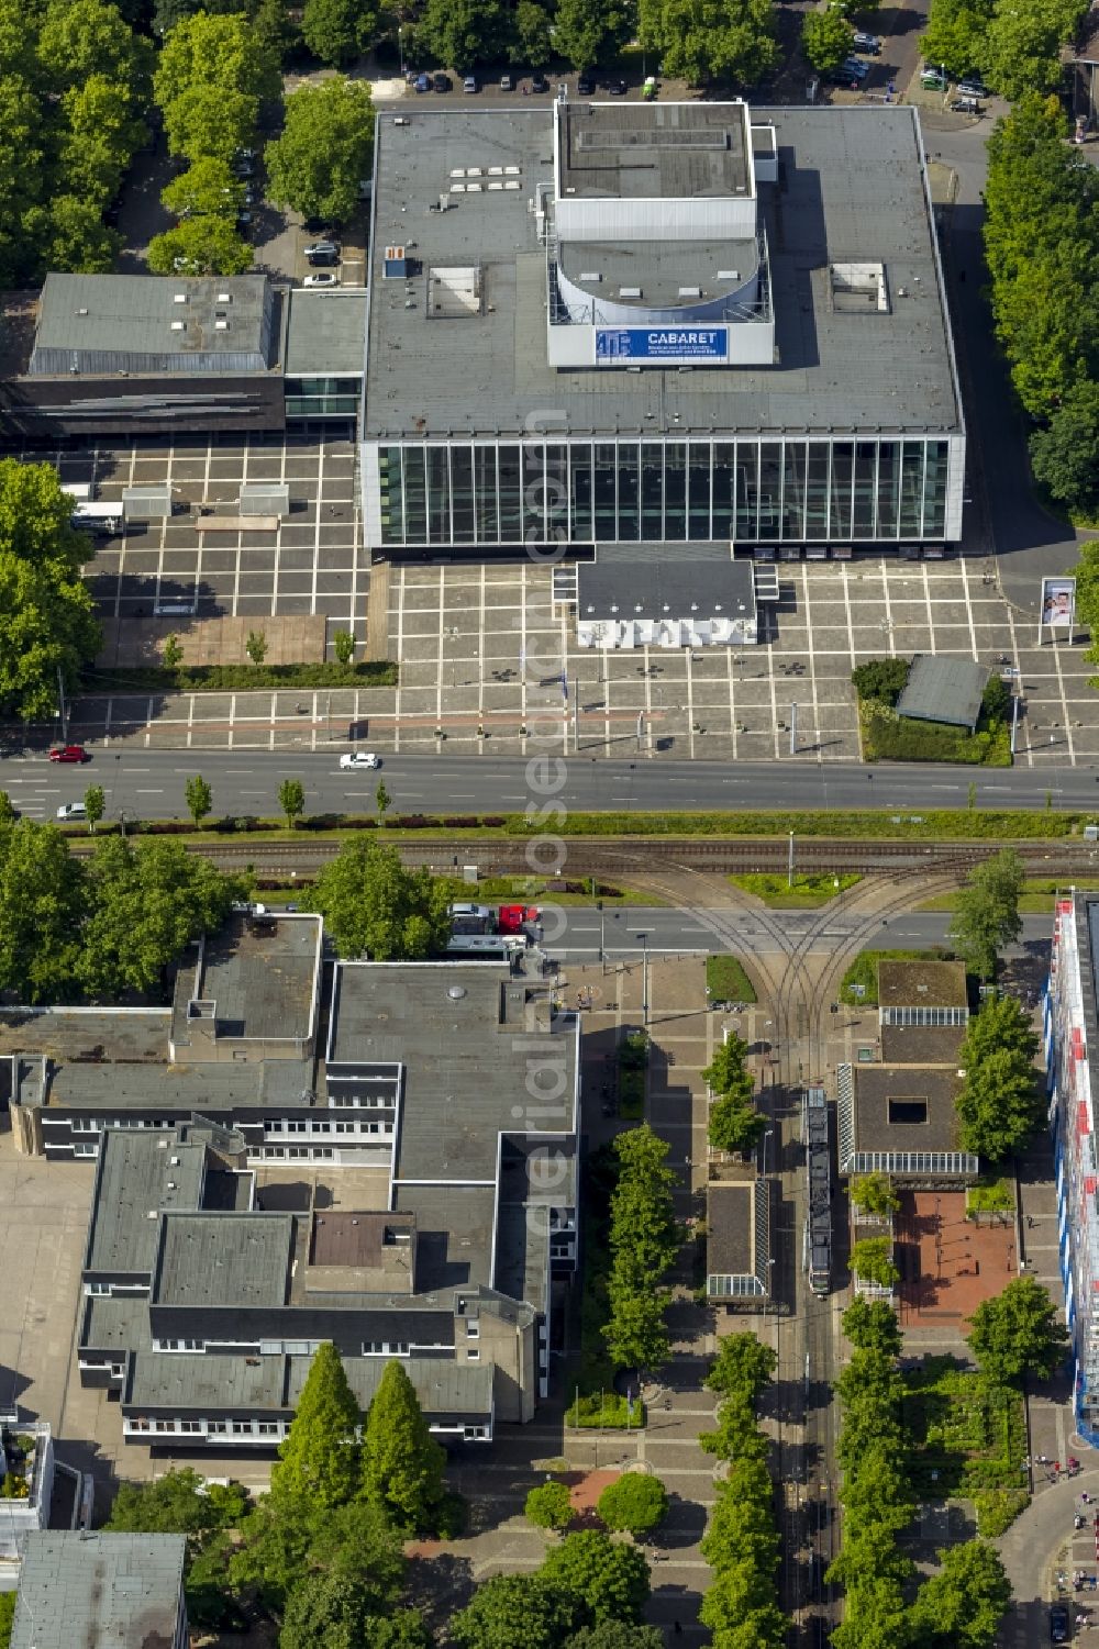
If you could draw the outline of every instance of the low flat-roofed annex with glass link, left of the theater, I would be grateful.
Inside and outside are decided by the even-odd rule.
[[[51,437],[355,429],[366,294],[266,275],[50,274],[0,300],[0,429]]]

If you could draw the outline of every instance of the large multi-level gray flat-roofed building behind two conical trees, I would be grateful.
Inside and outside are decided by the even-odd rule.
[[[104,1130],[81,1382],[130,1443],[266,1449],[332,1341],[363,1407],[398,1357],[439,1435],[530,1420],[578,1261],[578,1072],[579,1016],[521,971],[340,963],[318,1093],[282,1126],[305,1154],[312,1123],[368,1116],[373,1149],[320,1148],[317,1179],[201,1115]]]

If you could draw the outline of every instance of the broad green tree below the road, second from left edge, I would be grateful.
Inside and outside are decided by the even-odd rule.
[[[94,996],[167,989],[167,968],[190,940],[226,920],[248,884],[180,841],[109,836],[86,872],[76,973]]]

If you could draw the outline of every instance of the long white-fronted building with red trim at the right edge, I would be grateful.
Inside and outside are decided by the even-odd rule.
[[[1076,1430],[1099,1448],[1099,895],[1056,900],[1045,1001],[1058,1240],[1073,1336]]]

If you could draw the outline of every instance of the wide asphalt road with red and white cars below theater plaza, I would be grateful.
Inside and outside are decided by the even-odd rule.
[[[78,801],[87,785],[107,793],[107,818],[185,818],[183,787],[193,773],[210,783],[215,815],[279,811],[285,777],[305,785],[305,811],[373,813],[384,778],[396,813],[516,813],[543,808],[546,829],[576,811],[754,808],[964,808],[970,783],[983,808],[1094,808],[1099,773],[1063,768],[980,772],[959,767],[875,767],[840,762],[594,762],[576,757],[502,759],[391,755],[381,772],[340,772],[340,749],[317,754],[256,750],[106,750],[83,767],[45,755],[0,762],[0,788],[30,818],[53,818],[63,801]]]

